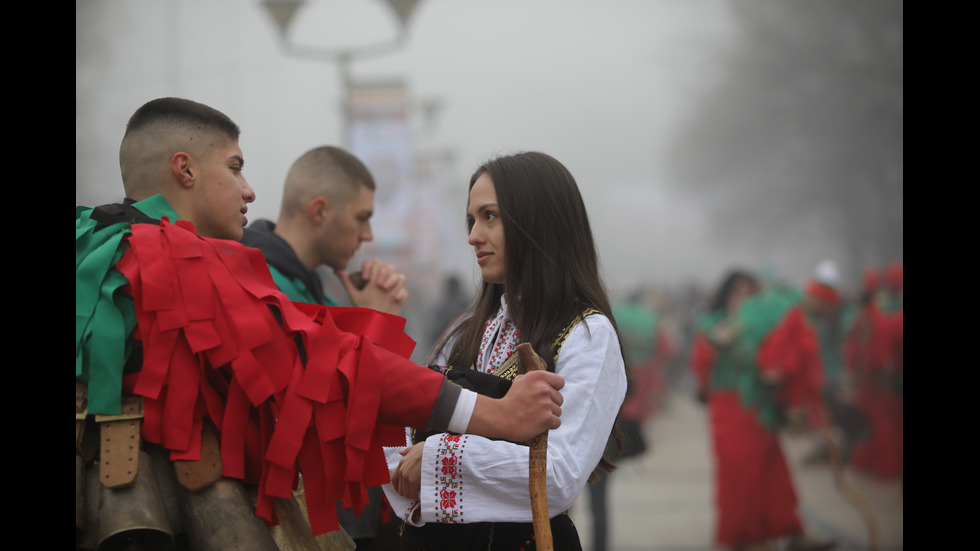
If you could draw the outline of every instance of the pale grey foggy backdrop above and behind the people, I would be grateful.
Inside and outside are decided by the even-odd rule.
[[[902,46],[900,0],[424,0],[405,19],[309,0],[285,34],[259,1],[76,0],[75,202],[122,198],[127,119],[180,96],[241,126],[249,220],[275,220],[308,149],[365,158],[375,241],[354,264],[409,274],[420,345],[443,276],[478,277],[470,174],[519,150],[576,177],[614,297],[736,265],[800,284],[824,258],[849,291],[902,260]],[[345,117],[345,78],[394,118]]]

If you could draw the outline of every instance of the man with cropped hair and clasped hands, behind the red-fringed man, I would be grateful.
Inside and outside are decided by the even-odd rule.
[[[262,251],[279,290],[293,301],[338,305],[324,293],[316,271],[327,266],[354,306],[397,315],[408,298],[403,274],[377,259],[361,264],[363,286],[347,274],[361,243],[374,237],[375,189],[374,176],[355,155],[334,146],[310,149],[286,174],[279,219],[253,221],[245,228],[242,243]],[[337,506],[340,526],[358,549],[397,545],[401,523],[387,514],[380,486],[368,489],[361,514],[344,505]]]

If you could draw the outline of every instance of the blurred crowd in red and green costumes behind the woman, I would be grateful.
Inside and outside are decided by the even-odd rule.
[[[811,438],[808,464],[901,481],[903,298],[900,262],[847,289],[831,260],[801,285],[733,269],[710,291],[630,293],[614,310],[631,372],[621,458],[651,449],[644,427],[693,393],[710,424],[716,544],[833,548],[807,535],[780,436]]]

